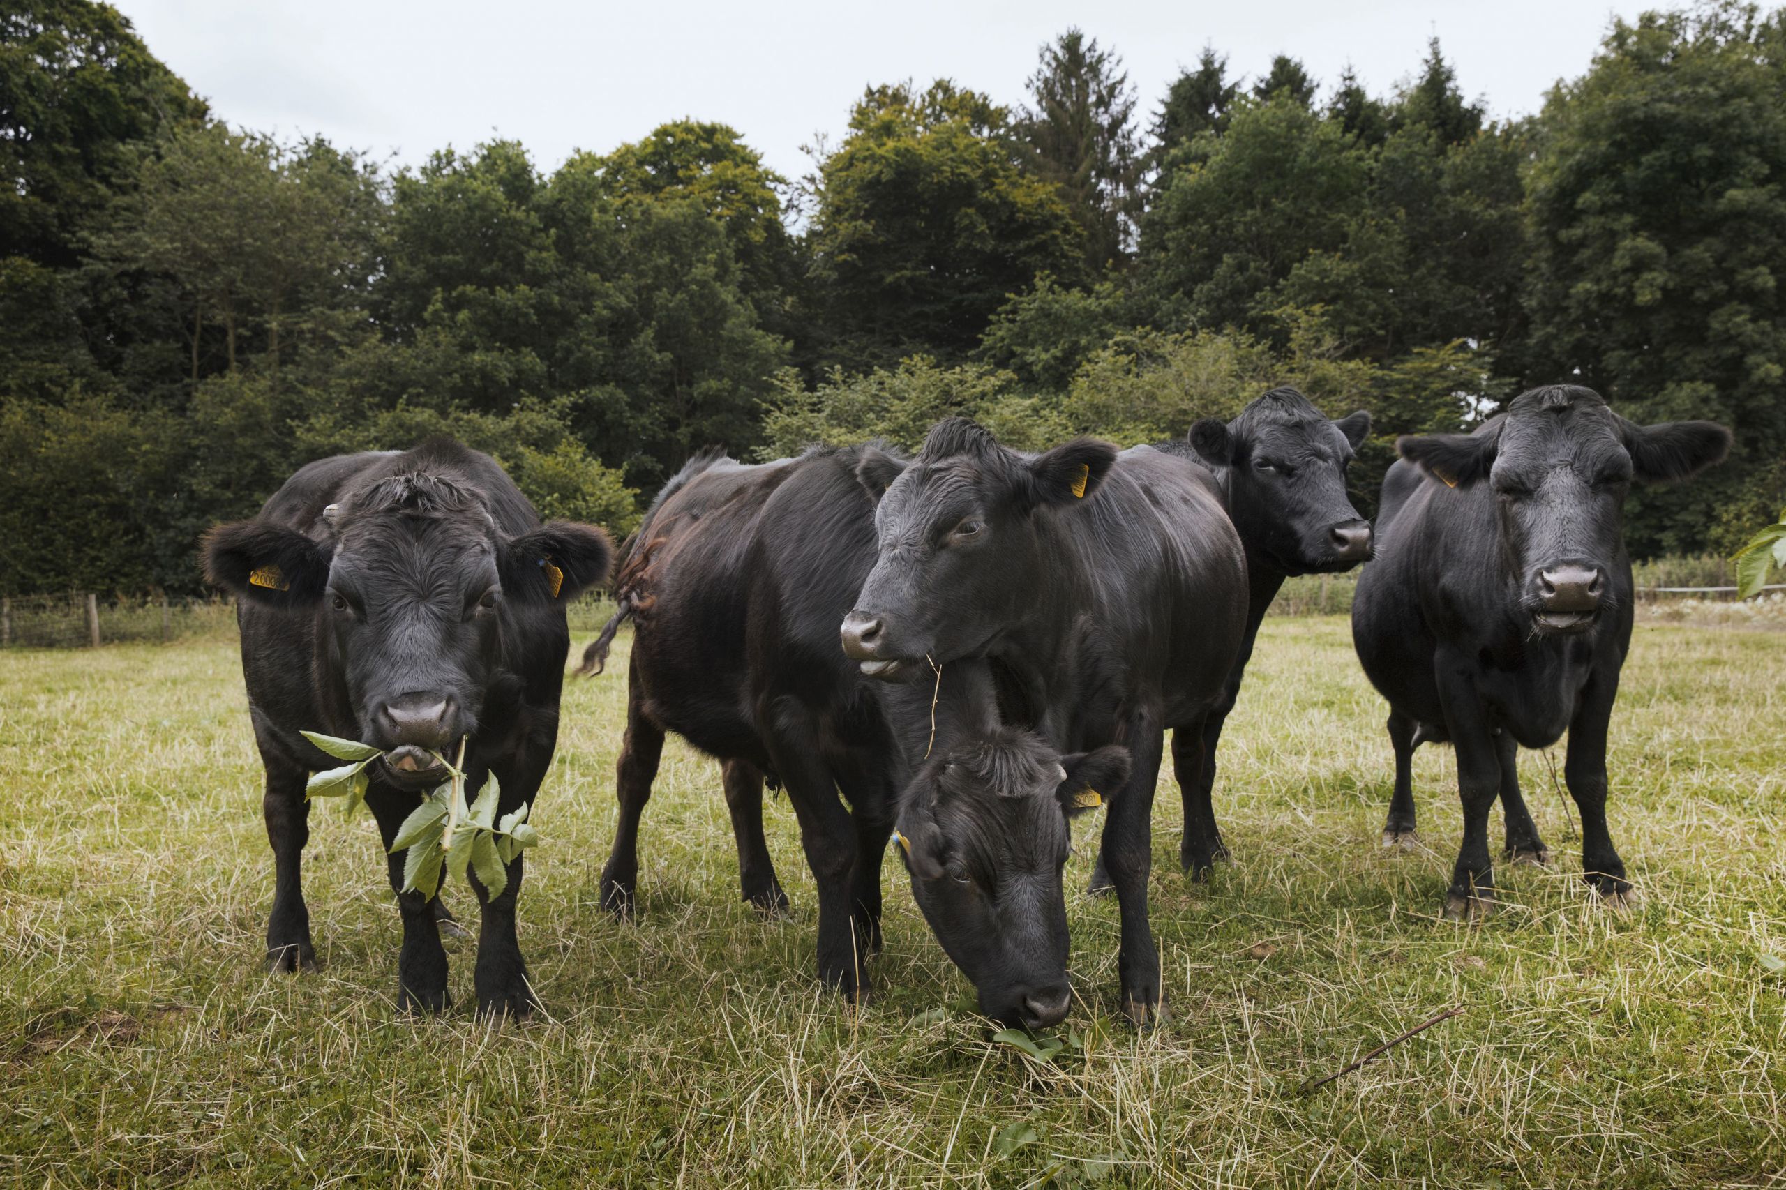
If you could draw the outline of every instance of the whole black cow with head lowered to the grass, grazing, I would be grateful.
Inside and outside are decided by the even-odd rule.
[[[939,681],[898,686],[864,679],[838,650],[838,622],[875,561],[873,499],[857,468],[886,465],[898,461],[877,448],[813,450],[759,466],[704,456],[647,516],[616,582],[622,615],[586,658],[593,668],[611,629],[636,620],[620,825],[602,902],[618,915],[634,908],[639,815],[664,733],[675,731],[723,761],[743,892],[764,909],[784,901],[763,847],[763,779],[786,788],[818,883],[820,976],[855,999],[868,997],[866,960],[880,945],[880,863],[895,815],[911,824],[907,863],[920,901],[954,865],[927,825],[998,822],[1007,856],[1025,865],[1039,858],[1043,895],[1014,897],[1007,913],[977,922],[977,933],[938,934],[988,1017],[1050,1026],[1068,1008],[1064,943],[1029,943],[1064,933],[1064,777],[1034,777],[1063,758],[1000,733],[986,663],[950,665]],[[970,763],[1020,754],[1032,763]],[[945,756],[954,767],[932,759],[925,779],[911,779]],[[1106,786],[1118,761],[1111,750],[1064,758],[1077,777]]]

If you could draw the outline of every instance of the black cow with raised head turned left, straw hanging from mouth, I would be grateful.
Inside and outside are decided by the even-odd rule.
[[[909,466],[870,454],[861,472],[884,490],[875,565],[841,625],[863,672],[923,677],[988,658],[1006,675],[1011,722],[1063,750],[1129,749],[1129,781],[1106,790],[1102,858],[1122,904],[1123,1010],[1147,1020],[1159,1006],[1147,877],[1163,733],[1188,727],[1188,749],[1200,750],[1247,616],[1245,556],[1213,477],[1175,454],[1118,456],[1093,440],[1022,456],[964,418],[938,423]],[[1200,768],[1189,752],[1184,763]],[[939,934],[939,922],[1002,909],[1013,877],[1036,879],[1006,867],[989,829],[947,843],[984,877],[920,890]]]

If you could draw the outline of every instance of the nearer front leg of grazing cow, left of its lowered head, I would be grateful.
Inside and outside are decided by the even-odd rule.
[[[766,722],[804,724],[804,711],[773,713]],[[868,936],[859,933],[855,858],[859,843],[850,811],[809,731],[784,731],[770,743],[775,772],[800,820],[800,845],[818,883],[818,977],[857,1004],[868,1002]]]

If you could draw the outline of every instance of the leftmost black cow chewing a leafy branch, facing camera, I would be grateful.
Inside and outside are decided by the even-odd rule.
[[[304,466],[257,518],[213,529],[204,556],[209,579],[239,600],[248,715],[266,768],[277,872],[268,960],[296,970],[316,961],[298,881],[305,777],[339,763],[298,733],[386,752],[366,792],[386,849],[445,779],[434,754],[459,740],[470,797],[495,774],[498,813],[532,802],[557,742],[564,604],[607,577],[613,549],[591,525],[541,525],[489,456],[438,438]],[[405,854],[389,856],[404,918],[400,1002],[438,1010],[446,952],[429,902],[402,892]],[[514,938],[522,865],[516,854],[495,899],[472,881],[480,1011],[536,1004]]]

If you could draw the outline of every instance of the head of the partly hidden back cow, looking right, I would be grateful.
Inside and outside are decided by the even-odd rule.
[[[1241,541],[1284,574],[1350,570],[1370,557],[1370,524],[1345,493],[1370,415],[1329,422],[1293,388],[1273,388],[1222,423],[1191,427],[1191,448],[1225,468],[1229,516]]]

